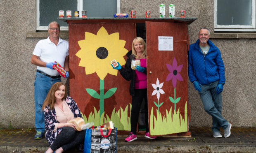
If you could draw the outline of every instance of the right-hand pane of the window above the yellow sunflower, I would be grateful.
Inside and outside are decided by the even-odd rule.
[[[87,17],[113,17],[116,3],[116,0],[83,0],[83,10]]]

